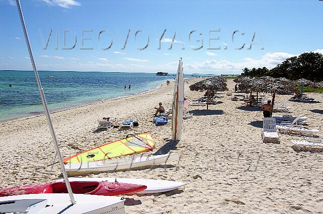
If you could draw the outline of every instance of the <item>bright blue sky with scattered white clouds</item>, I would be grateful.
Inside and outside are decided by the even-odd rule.
[[[22,0],[21,5],[38,70],[175,73],[182,57],[185,73],[233,74],[245,67],[273,68],[305,51],[323,53],[318,0]],[[32,70],[15,1],[0,0],[0,14],[0,70]]]

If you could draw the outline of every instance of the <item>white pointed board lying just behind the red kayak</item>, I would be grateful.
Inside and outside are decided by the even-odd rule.
[[[107,181],[107,182],[121,182],[125,184],[145,185],[147,188],[135,194],[152,194],[158,192],[167,192],[178,189],[185,185],[183,182],[155,180],[155,179],[138,179],[138,178],[69,178],[70,181]],[[62,182],[63,179],[57,180]]]

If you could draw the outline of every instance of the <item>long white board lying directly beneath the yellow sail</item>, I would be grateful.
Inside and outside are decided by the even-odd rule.
[[[130,170],[134,168],[167,164],[179,158],[177,153],[139,156],[139,157],[124,157],[116,159],[107,159],[96,162],[86,163],[70,163],[65,165],[65,169],[69,174],[74,173],[90,173],[90,172],[105,172],[116,170]]]

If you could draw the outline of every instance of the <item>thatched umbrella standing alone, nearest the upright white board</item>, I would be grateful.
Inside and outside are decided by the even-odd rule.
[[[190,85],[191,91],[203,91],[207,90],[207,103],[206,109],[208,109],[209,91],[225,91],[227,88],[227,79],[225,77],[212,77],[200,82]]]

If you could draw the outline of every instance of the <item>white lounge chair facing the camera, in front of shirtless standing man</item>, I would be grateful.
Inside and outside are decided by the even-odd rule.
[[[280,142],[280,134],[276,129],[274,118],[264,118],[262,123],[262,142]]]

